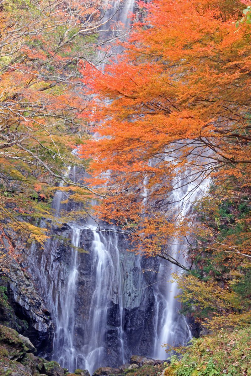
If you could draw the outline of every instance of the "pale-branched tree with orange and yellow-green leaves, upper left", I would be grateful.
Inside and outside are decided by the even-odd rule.
[[[78,200],[92,194],[65,171],[86,165],[72,154],[86,137],[78,64],[100,64],[98,35],[108,29],[108,8],[105,0],[1,1],[0,212],[40,241],[44,230],[30,218],[53,219],[50,198],[59,180]],[[120,34],[114,26],[109,38]]]

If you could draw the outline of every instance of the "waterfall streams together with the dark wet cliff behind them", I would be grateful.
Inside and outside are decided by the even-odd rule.
[[[126,2],[118,13],[123,23],[134,3]],[[81,171],[68,168],[67,173],[76,180]],[[191,184],[177,186],[171,198],[182,215],[198,195]],[[66,196],[59,189],[53,199],[58,217],[62,209],[75,209],[71,200],[63,203]],[[116,367],[132,354],[166,359],[161,344],[184,345],[191,338],[187,321],[178,314],[177,287],[168,283],[176,267],[128,252],[123,233],[100,226],[102,231],[86,220],[54,226],[44,249],[33,244],[26,255],[54,321],[48,357],[71,372],[82,368],[92,374],[100,366]],[[173,256],[178,248],[174,240]]]

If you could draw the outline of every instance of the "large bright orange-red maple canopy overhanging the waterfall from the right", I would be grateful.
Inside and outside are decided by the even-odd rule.
[[[150,255],[170,260],[170,236],[183,243],[195,231],[192,209],[170,203],[200,198],[193,193],[206,190],[209,178],[217,186],[249,184],[248,12],[236,28],[243,3],[140,2],[146,20],[135,24],[119,61],[104,73],[82,69],[94,96],[82,115],[100,135],[83,145],[82,156],[92,159],[95,184],[106,184],[100,216]]]

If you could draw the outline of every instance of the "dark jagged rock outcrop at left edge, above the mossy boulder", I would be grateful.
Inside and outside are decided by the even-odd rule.
[[[8,277],[0,278],[0,286],[4,291],[0,323],[28,337],[44,356],[49,354],[53,338],[50,313],[30,276],[13,260]]]

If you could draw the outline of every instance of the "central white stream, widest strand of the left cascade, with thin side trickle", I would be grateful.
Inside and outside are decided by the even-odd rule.
[[[82,349],[85,368],[92,374],[103,365],[106,351],[107,316],[111,300],[117,303],[117,337],[120,342],[118,357],[121,364],[125,362],[124,333],[123,333],[123,304],[122,278],[120,270],[120,255],[117,235],[108,232],[108,236],[97,232],[97,228],[90,226],[93,232],[93,264],[91,274],[96,281],[91,297],[89,318],[86,325],[86,345]]]

